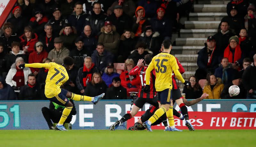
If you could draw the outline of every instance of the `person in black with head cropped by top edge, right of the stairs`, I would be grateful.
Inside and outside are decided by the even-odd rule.
[[[227,14],[230,16],[231,5],[236,5],[237,7],[237,16],[243,18],[246,15],[246,10],[248,8],[247,0],[231,0],[227,4]]]

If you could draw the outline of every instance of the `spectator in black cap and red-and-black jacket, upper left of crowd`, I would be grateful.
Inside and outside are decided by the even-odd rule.
[[[40,9],[35,9],[34,17],[31,17],[28,25],[30,25],[36,34],[44,32],[44,25],[48,22],[48,18],[45,17]]]

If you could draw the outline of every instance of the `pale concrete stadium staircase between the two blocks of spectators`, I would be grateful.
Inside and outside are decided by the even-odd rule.
[[[185,80],[195,75],[198,68],[197,52],[204,47],[206,39],[217,32],[222,17],[227,16],[227,0],[195,0],[194,12],[189,18],[181,18],[180,22],[185,24],[185,29],[180,30],[180,38],[176,38],[176,46],[171,53],[177,57],[185,69],[182,75]],[[180,90],[183,84],[178,81]]]

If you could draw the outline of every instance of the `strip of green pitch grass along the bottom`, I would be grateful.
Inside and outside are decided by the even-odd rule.
[[[252,147],[256,130],[0,130],[3,147]]]

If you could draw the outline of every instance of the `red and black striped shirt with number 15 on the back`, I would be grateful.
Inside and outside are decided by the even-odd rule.
[[[144,67],[138,67],[135,66],[134,68],[132,68],[132,70],[130,71],[129,75],[133,75],[133,76],[139,76],[140,78],[140,88],[139,88],[139,93],[138,93],[138,97],[139,98],[154,98],[156,96],[156,88],[155,88],[155,80],[156,80],[156,72],[155,70],[151,71],[151,75],[150,75],[150,92],[145,93],[145,92],[141,92],[141,89],[144,88],[144,86],[146,86],[146,69],[148,68],[148,66],[144,66]]]

